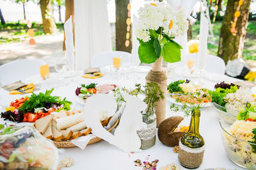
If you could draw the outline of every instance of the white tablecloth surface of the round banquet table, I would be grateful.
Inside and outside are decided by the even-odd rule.
[[[77,102],[75,90],[80,84],[90,84],[95,82],[98,84],[116,84],[118,86],[126,87],[127,89],[134,88],[135,83],[145,84],[145,75],[147,72],[140,72],[136,75],[137,79],[133,79],[134,73],[127,73],[126,75],[113,75],[107,74],[99,79],[86,79],[77,75],[76,77],[67,78],[62,81],[56,81],[58,85],[55,86],[52,95],[67,97],[67,100],[72,101],[72,107],[74,109],[81,109],[83,105]],[[129,77],[130,76],[130,77]],[[39,77],[39,75],[38,75]],[[125,79],[126,77],[126,79]],[[173,81],[179,80],[179,77],[168,78],[168,84]],[[181,78],[181,79],[184,79]],[[202,84],[203,87],[213,89],[214,84],[217,82],[235,82],[237,79],[228,77],[226,75],[217,75],[214,73],[206,73],[203,78],[190,78],[192,81],[197,81]],[[54,83],[53,83],[54,84]],[[52,86],[52,83],[49,85]],[[39,93],[39,91],[35,91]],[[29,95],[29,94],[27,94]],[[9,95],[9,92],[0,88],[0,104],[3,106],[10,105],[13,100],[24,97],[26,95]],[[167,101],[166,104],[166,118],[170,116],[184,116],[182,112],[170,111],[171,102]],[[185,117],[184,121],[180,125],[189,125],[190,117]],[[1,119],[0,123],[5,123]],[[14,124],[8,121],[8,124]],[[24,123],[18,123],[18,125],[24,125]],[[198,169],[208,169],[223,167],[225,169],[242,169],[236,166],[228,157],[223,147],[220,135],[220,124],[216,117],[216,112],[212,107],[202,108],[200,117],[200,134],[205,140],[205,153],[204,162]],[[109,144],[106,141],[100,141],[86,146],[84,150],[80,148],[67,148],[60,150],[59,162],[65,157],[72,157],[74,164],[67,169],[142,169],[142,167],[134,166],[134,160],[140,159],[141,161],[152,161],[158,159],[157,169],[166,166],[167,164],[179,164],[178,154],[173,152],[172,147],[164,146],[159,139],[156,139],[156,144],[148,149],[142,150],[140,153],[125,153],[114,145]],[[186,169],[180,166],[181,169]],[[65,169],[65,168],[63,168]]]

